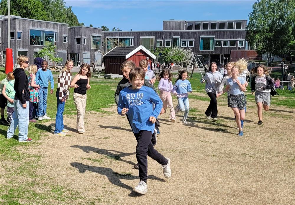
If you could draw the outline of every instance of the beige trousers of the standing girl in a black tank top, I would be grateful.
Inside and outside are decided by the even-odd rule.
[[[78,93],[73,94],[74,103],[77,110],[77,131],[83,131],[84,129],[84,116],[85,116],[85,110],[86,110],[86,99],[87,95],[81,95]]]

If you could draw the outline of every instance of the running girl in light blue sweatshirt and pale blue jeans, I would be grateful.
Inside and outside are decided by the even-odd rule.
[[[186,124],[187,116],[189,115],[189,95],[188,92],[192,92],[191,83],[186,80],[187,71],[182,70],[179,73],[177,80],[175,81],[175,85],[173,87],[173,94],[176,94],[178,105],[175,108],[175,114],[179,111],[184,112],[182,123]]]

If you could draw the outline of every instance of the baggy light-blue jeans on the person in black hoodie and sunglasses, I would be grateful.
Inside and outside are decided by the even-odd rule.
[[[7,130],[7,139],[12,138],[14,131],[19,127],[19,141],[28,139],[29,128],[29,101],[26,101],[27,107],[23,108],[20,100],[14,100],[14,112],[10,127]]]

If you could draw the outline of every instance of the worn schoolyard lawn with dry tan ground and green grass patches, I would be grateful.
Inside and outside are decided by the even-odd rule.
[[[4,79],[4,70],[2,69],[0,71],[0,79]],[[57,75],[57,73],[54,74],[55,76]],[[227,193],[227,195],[223,195],[222,189],[220,190],[220,193],[218,193],[220,194],[220,196],[218,196],[218,198],[220,197],[220,200],[215,198],[216,196],[213,194],[217,194],[215,191],[217,189],[214,183],[219,184],[218,186],[223,186],[222,182],[227,184],[227,182],[223,181],[223,179],[227,178],[229,181],[231,181],[231,174],[233,174],[234,177],[237,177],[237,179],[240,178],[242,182],[244,182],[243,179],[248,179],[249,181],[247,183],[250,183],[250,181],[253,181],[254,179],[259,179],[259,174],[262,173],[258,170],[251,171],[251,169],[253,169],[251,166],[254,166],[254,164],[257,164],[257,166],[259,166],[259,163],[268,164],[268,166],[270,166],[269,169],[275,170],[275,175],[277,176],[278,169],[276,165],[272,165],[270,162],[272,160],[282,160],[282,163],[285,163],[283,165],[283,172],[289,177],[289,179],[286,179],[285,177],[282,178],[283,181],[286,181],[286,193],[284,194],[286,197],[288,197],[288,199],[286,199],[284,202],[290,202],[290,197],[294,197],[294,193],[290,193],[290,188],[292,185],[290,185],[289,181],[291,180],[292,176],[294,179],[294,135],[293,137],[286,137],[286,135],[283,134],[283,130],[282,132],[274,131],[273,133],[276,133],[274,138],[264,137],[263,141],[259,142],[266,146],[262,147],[261,150],[263,151],[261,151],[255,147],[255,144],[259,141],[258,138],[255,137],[255,139],[251,141],[249,136],[250,133],[251,135],[255,135],[255,130],[252,129],[254,129],[253,127],[256,127],[256,124],[249,122],[249,129],[246,130],[246,134],[248,132],[249,136],[247,139],[249,146],[247,143],[240,144],[240,140],[235,138],[230,140],[229,137],[231,138],[234,136],[230,133],[233,132],[233,127],[236,125],[232,120],[232,117],[229,117],[232,115],[232,113],[230,113],[229,116],[224,114],[225,110],[228,110],[226,96],[222,96],[218,101],[221,110],[220,112],[223,113],[219,118],[219,121],[214,123],[208,122],[204,119],[204,107],[207,106],[209,98],[204,92],[204,84],[200,83],[200,74],[195,73],[190,81],[193,87],[193,94],[189,96],[191,105],[189,121],[194,122],[195,124],[191,127],[188,126],[183,129],[183,125],[177,123],[174,126],[171,126],[173,128],[171,128],[172,131],[170,130],[170,132],[168,129],[168,120],[160,119],[163,130],[165,130],[167,133],[170,133],[169,135],[167,134],[167,137],[171,136],[171,139],[173,139],[176,144],[174,144],[171,140],[166,141],[167,139],[164,137],[165,134],[162,134],[161,137],[163,136],[163,138],[160,138],[163,139],[162,145],[157,145],[159,146],[157,149],[174,156],[174,163],[179,163],[180,169],[181,166],[184,166],[184,162],[182,162],[181,159],[194,161],[196,158],[199,160],[199,162],[194,161],[195,164],[204,166],[206,169],[216,171],[212,173],[212,176],[210,175],[212,178],[208,178],[209,175],[206,175],[205,170],[199,170],[200,173],[203,173],[205,176],[202,179],[205,180],[203,182],[207,184],[208,180],[210,181],[210,183],[207,184],[208,187],[204,189],[206,191],[203,193],[199,192],[202,196],[202,200],[207,199],[207,201],[202,201],[203,203],[201,204],[278,203],[276,200],[268,201],[266,196],[261,196],[260,198],[254,197],[256,201],[246,199],[246,195],[244,197],[242,194],[243,191],[240,189],[246,190],[247,186],[242,186],[241,188],[238,184],[228,188],[237,188],[237,190],[240,190],[241,193],[239,193],[239,196],[235,196],[234,193],[227,193],[226,191],[224,191],[224,193]],[[55,78],[55,83],[56,82],[57,81]],[[81,137],[81,135],[77,135],[74,132],[76,127],[76,109],[72,100],[72,95],[70,95],[70,99],[66,102],[64,115],[66,117],[65,121],[67,122],[68,127],[70,127],[71,131],[73,132],[70,132],[70,134],[65,138],[56,138],[50,134],[53,132],[53,126],[55,124],[55,94],[48,94],[47,101],[47,113],[48,116],[52,118],[52,120],[44,120],[43,122],[29,124],[29,137],[33,138],[34,140],[32,143],[19,143],[17,141],[17,132],[15,133],[15,137],[13,139],[6,140],[5,136],[8,127],[0,125],[0,204],[136,204],[137,202],[143,200],[135,199],[136,197],[134,197],[134,195],[127,196],[126,191],[122,191],[125,190],[125,185],[122,185],[121,182],[119,182],[119,180],[121,180],[127,184],[130,180],[137,180],[137,177],[136,170],[130,171],[130,168],[126,168],[125,166],[126,163],[129,163],[128,160],[135,161],[135,156],[133,153],[135,147],[135,140],[133,139],[134,137],[130,132],[130,127],[126,123],[126,120],[116,115],[116,110],[114,107],[111,108],[111,106],[114,104],[114,91],[118,82],[118,79],[91,79],[91,89],[87,92],[87,115],[85,121],[86,127],[89,127],[89,129],[91,128],[92,131],[88,135],[83,135],[83,137]],[[157,83],[155,86],[157,86]],[[71,93],[72,91],[73,90],[71,90]],[[247,107],[250,110],[249,117],[253,115],[253,118],[255,118],[255,100],[254,96],[249,94],[249,91],[250,88],[248,88],[247,93]],[[291,110],[295,108],[295,94],[288,90],[280,90],[278,92],[280,95],[273,96],[271,102],[272,105],[274,105],[273,109],[275,111],[268,113],[264,112],[264,117],[269,120],[278,118],[280,123],[289,124],[289,122],[292,120],[294,121],[294,114],[290,113],[295,113]],[[173,101],[174,103],[176,102],[175,97],[173,97]],[[254,121],[256,121],[256,119]],[[261,129],[263,128],[264,131],[267,132],[269,126],[265,126],[266,127],[261,127]],[[279,129],[289,129],[287,127],[280,126]],[[180,139],[177,137],[178,134],[176,134],[179,132],[179,130],[183,130],[187,137],[193,137],[194,140],[190,139],[188,141],[179,141]],[[222,133],[222,136],[219,137],[220,139],[214,139],[217,133]],[[268,135],[269,134],[266,136]],[[132,146],[127,143],[130,139],[133,140]],[[279,147],[285,146],[286,150],[277,150],[278,147],[272,147],[275,146],[276,143],[279,144]],[[101,146],[105,146],[105,150],[94,148]],[[230,150],[228,146],[233,146],[233,150]],[[199,150],[195,150],[196,147],[198,147]],[[241,150],[242,148],[244,150]],[[271,151],[272,149],[274,150]],[[291,154],[291,149],[293,149],[293,154]],[[80,150],[83,151],[80,153]],[[114,152],[114,150],[117,151]],[[122,150],[122,152],[119,152],[118,150]],[[203,150],[203,152],[201,152],[201,150]],[[128,154],[127,152],[131,153]],[[97,155],[91,155],[89,153],[97,153]],[[183,153],[188,154],[187,158],[185,155],[183,155]],[[226,155],[226,153],[228,155]],[[198,154],[198,156],[195,156],[195,154]],[[65,161],[67,158],[76,161],[70,161],[71,166],[69,166],[68,161]],[[128,158],[128,160],[125,160],[126,158]],[[209,159],[210,163],[212,164],[218,164],[218,166],[212,169],[212,167],[210,167],[210,163],[208,163],[206,159]],[[84,164],[91,165],[85,165],[84,167],[80,162],[78,163],[78,160]],[[202,162],[202,164],[200,164],[200,162]],[[244,164],[244,162],[249,164]],[[129,165],[130,164],[132,163],[129,163]],[[224,176],[219,176],[219,173],[222,172],[218,172],[216,169],[222,169],[223,167],[232,166],[233,164],[237,165],[234,170],[227,170],[226,173],[223,173]],[[245,166],[245,170],[243,171],[241,169],[241,175],[236,176],[238,175],[238,169],[240,169],[238,166],[241,165]],[[154,166],[154,163],[152,166]],[[63,169],[60,167],[63,167]],[[83,167],[83,169],[81,167]],[[79,170],[78,172],[76,171],[77,169]],[[190,169],[189,171],[187,169],[188,168],[185,168],[184,170],[188,171],[189,173],[194,170]],[[265,171],[267,171],[267,169]],[[85,175],[82,173],[85,173]],[[210,173],[210,171],[208,173]],[[271,173],[273,173],[273,171],[270,171],[270,174],[267,175],[268,178],[266,181],[268,183],[271,183],[271,181],[269,181],[269,179],[272,177]],[[184,193],[185,191],[181,190],[181,186],[189,186],[191,189],[196,188],[200,191],[200,185],[191,184],[189,179],[181,174],[181,170],[176,168],[176,165],[174,174],[177,177],[175,178],[175,181],[171,182],[173,186],[171,185],[169,188],[169,191],[171,191],[173,195],[167,195],[170,197],[171,201],[169,197],[159,199],[164,195],[163,190],[160,187],[162,186],[161,183],[163,183],[163,180],[159,179],[158,177],[151,176],[153,180],[150,181],[153,183],[155,182],[155,184],[159,183],[159,186],[157,185],[155,188],[151,188],[150,191],[153,193],[153,189],[155,192],[158,190],[160,195],[146,195],[146,197],[148,197],[146,204],[155,204],[158,202],[167,202],[166,204],[198,204],[196,200],[201,199],[199,199],[195,192],[192,193],[192,191],[188,191],[192,194],[192,198],[190,199],[189,196]],[[107,177],[107,179],[101,177],[104,175]],[[181,181],[179,182],[179,186],[177,185],[178,179]],[[95,184],[91,184],[91,181],[95,182]],[[255,190],[259,192],[258,185],[259,183],[257,184],[257,187],[256,185],[254,186],[255,188],[253,188],[253,192],[249,191],[248,193],[251,195],[255,192]],[[169,182],[167,186],[169,186]],[[275,185],[268,184],[268,186]],[[127,186],[127,191],[130,190],[128,187],[129,186]],[[151,187],[153,186],[151,185]],[[177,199],[177,193],[174,193],[173,187],[177,187],[180,196],[183,196],[184,199]],[[280,187],[283,187],[283,185]],[[96,188],[98,189],[97,193],[94,191]],[[278,194],[281,193],[279,190],[274,191],[277,192],[273,196],[278,196]],[[230,198],[230,202],[221,200],[222,197],[224,197],[224,199]],[[238,197],[237,199],[240,201],[235,201],[235,197]],[[153,198],[158,199],[159,201],[154,201]],[[130,203],[128,201],[130,201]],[[196,203],[194,203],[194,201]]]

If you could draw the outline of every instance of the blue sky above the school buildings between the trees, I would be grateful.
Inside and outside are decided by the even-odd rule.
[[[111,30],[162,30],[163,20],[248,19],[257,0],[65,0],[80,22]]]

